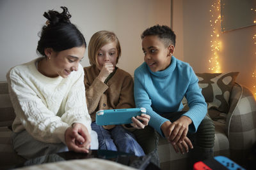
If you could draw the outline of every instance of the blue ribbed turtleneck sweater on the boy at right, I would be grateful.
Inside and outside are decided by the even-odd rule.
[[[189,111],[184,116],[193,122],[189,125],[189,132],[196,132],[207,113],[207,104],[201,91],[192,67],[173,56],[170,66],[163,71],[152,72],[145,62],[134,71],[136,107],[147,109],[151,117],[149,125],[162,136],[161,125],[169,120],[161,115],[181,111],[184,96],[189,104]]]

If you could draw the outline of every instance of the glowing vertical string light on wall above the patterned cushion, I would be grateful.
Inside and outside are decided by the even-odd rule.
[[[221,16],[220,16],[220,0],[211,6],[211,58],[209,59],[209,70],[213,73],[221,73],[221,66],[219,62],[218,52],[221,50],[221,41],[220,41],[220,25],[221,25]]]

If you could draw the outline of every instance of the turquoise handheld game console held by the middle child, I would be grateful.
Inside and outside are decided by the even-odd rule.
[[[145,108],[128,108],[115,110],[99,110],[96,112],[97,125],[132,124],[132,117],[146,114]]]

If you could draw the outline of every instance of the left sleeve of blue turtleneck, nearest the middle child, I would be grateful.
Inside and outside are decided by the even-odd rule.
[[[145,79],[143,74],[140,74],[138,70],[134,72],[134,100],[136,108],[146,108],[147,114],[150,115],[150,120],[148,124],[156,129],[156,131],[164,137],[163,132],[161,131],[161,125],[170,121],[164,117],[161,117],[156,111],[151,107],[151,100],[148,96],[147,90],[145,90]]]

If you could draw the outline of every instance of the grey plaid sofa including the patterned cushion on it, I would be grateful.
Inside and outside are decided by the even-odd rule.
[[[244,165],[256,141],[256,102],[252,92],[236,82],[238,73],[196,73],[208,104],[208,115],[215,124],[214,156],[223,155]],[[186,99],[182,101],[188,110]],[[8,95],[8,84],[0,82],[0,169],[24,161],[12,148],[10,126],[15,113]],[[172,145],[159,138],[161,169],[187,169],[188,153],[175,153]]]

